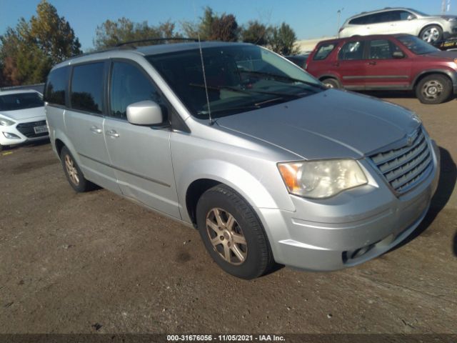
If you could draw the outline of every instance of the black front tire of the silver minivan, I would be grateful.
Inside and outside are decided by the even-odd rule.
[[[215,229],[207,227],[206,219],[210,219],[211,216],[215,214],[215,209],[220,211],[221,218],[225,217],[223,219],[229,217],[227,214],[233,216],[234,224],[232,225],[232,233],[237,233],[238,237],[243,237],[246,244],[238,244],[233,240],[233,237],[229,234],[230,229],[227,229],[229,225],[224,227],[224,229],[221,229],[221,226],[218,227],[216,224],[216,229],[221,230],[220,232],[216,232]],[[223,211],[225,211],[225,216],[223,215]],[[219,264],[219,267],[224,269],[225,272],[241,279],[254,279],[265,274],[273,267],[273,254],[271,253],[270,244],[263,231],[261,222],[258,220],[256,213],[246,200],[230,187],[219,184],[206,191],[200,197],[199,203],[197,204],[196,219],[201,239],[203,240],[206,249],[214,261]],[[229,220],[226,220],[225,224],[228,222]],[[219,239],[219,242],[221,243],[217,246],[211,243],[211,233],[214,234],[214,237],[212,237],[213,239],[219,239],[219,235],[221,235],[220,237],[222,240]],[[225,241],[224,234],[226,234]],[[224,247],[226,247],[226,245],[224,244],[228,244],[228,246],[231,247],[226,248],[229,249],[228,252],[230,259],[232,260],[231,262],[228,262],[222,256],[222,254],[225,254]],[[241,259],[236,257],[235,250],[232,249],[237,249],[238,252],[243,250],[242,252],[245,253],[243,262],[239,263]]]

